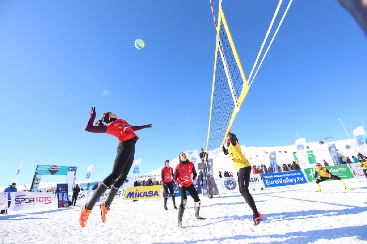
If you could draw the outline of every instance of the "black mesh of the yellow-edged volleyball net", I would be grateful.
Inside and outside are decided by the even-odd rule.
[[[232,113],[235,110],[219,48],[222,48],[224,53],[226,66],[230,73],[236,99],[239,98],[243,87],[243,79],[223,25],[221,25],[219,39],[221,40],[221,47],[218,47],[217,53],[208,150],[221,147],[225,131],[229,125]]]

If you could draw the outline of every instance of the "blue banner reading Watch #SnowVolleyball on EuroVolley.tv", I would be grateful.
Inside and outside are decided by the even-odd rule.
[[[307,183],[301,170],[261,174],[265,187],[287,186]]]

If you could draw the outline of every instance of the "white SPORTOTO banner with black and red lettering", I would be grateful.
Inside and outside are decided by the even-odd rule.
[[[10,211],[48,207],[54,203],[52,192],[11,192],[10,198]]]

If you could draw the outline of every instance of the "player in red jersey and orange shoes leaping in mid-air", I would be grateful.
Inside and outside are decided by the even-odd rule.
[[[87,219],[92,208],[94,207],[94,204],[97,202],[99,197],[101,197],[102,194],[111,186],[106,202],[99,205],[99,208],[101,209],[102,221],[106,222],[106,214],[110,210],[110,204],[112,203],[117,191],[126,180],[127,174],[129,173],[132,166],[132,162],[134,161],[135,143],[139,139],[134,131],[152,127],[152,124],[142,126],[129,125],[123,119],[117,119],[116,114],[113,114],[112,112],[103,113],[102,119],[94,123],[94,125],[97,126],[93,126],[94,119],[95,107],[92,107],[86,126],[87,132],[107,133],[112,136],[116,136],[120,143],[117,147],[117,155],[115,163],[112,167],[112,173],[109,174],[101,182],[101,184],[99,184],[90,201],[83,204],[81,207],[79,223],[83,228],[86,227]],[[107,123],[107,125],[104,125],[102,121]]]

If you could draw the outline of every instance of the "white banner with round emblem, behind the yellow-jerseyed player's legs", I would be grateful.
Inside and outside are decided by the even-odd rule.
[[[239,192],[240,189],[237,180],[237,176],[219,178],[219,181],[221,182],[221,193]],[[262,187],[264,186],[262,185],[261,174],[252,174],[250,176],[250,185],[248,188],[254,189]]]

